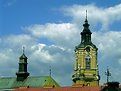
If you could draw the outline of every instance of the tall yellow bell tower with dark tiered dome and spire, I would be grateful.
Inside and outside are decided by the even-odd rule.
[[[81,32],[81,43],[75,47],[75,66],[72,75],[73,85],[83,86],[98,86],[99,71],[97,65],[97,50],[98,48],[91,41],[92,32],[89,29],[89,24],[86,19]]]

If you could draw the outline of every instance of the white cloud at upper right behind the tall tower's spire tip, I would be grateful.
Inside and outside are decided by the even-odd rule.
[[[89,21],[93,23],[93,26],[94,24],[101,23],[102,30],[108,30],[110,24],[121,20],[121,4],[109,8],[100,8],[94,4],[73,5],[62,9],[65,15],[73,17],[74,21],[77,23],[85,19],[87,9]]]

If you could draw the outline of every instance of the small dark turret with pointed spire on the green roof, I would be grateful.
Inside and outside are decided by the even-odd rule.
[[[27,57],[24,54],[24,47],[23,47],[23,54],[19,57],[19,69],[16,73],[17,81],[24,81],[28,76],[29,73],[27,72]]]

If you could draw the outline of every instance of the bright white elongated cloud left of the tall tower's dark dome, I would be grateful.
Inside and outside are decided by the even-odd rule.
[[[65,39],[68,39],[68,36],[71,34],[73,28],[73,25],[70,23],[63,23],[63,24],[45,24],[45,25],[33,25],[30,27],[25,28],[26,30],[32,32],[34,36],[37,37],[43,37],[48,36],[50,38],[55,37],[65,37]],[[67,36],[65,34],[68,32]]]

